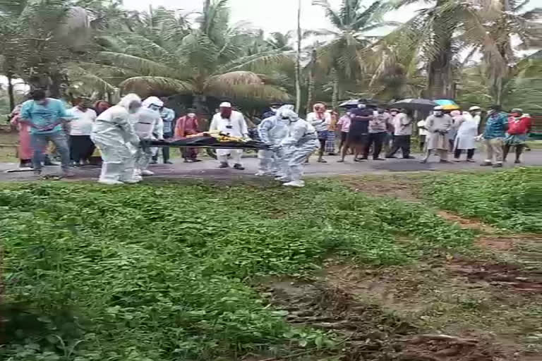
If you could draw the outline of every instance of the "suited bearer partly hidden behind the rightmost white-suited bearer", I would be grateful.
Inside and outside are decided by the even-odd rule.
[[[283,175],[281,169],[282,149],[280,142],[288,135],[289,118],[282,117],[284,111],[293,111],[291,104],[283,105],[277,109],[274,116],[265,118],[258,126],[260,140],[268,145],[270,149],[258,151],[260,165],[256,176],[278,176]]]

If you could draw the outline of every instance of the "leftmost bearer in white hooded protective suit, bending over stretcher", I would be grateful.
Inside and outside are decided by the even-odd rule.
[[[139,181],[133,177],[139,137],[129,118],[138,112],[140,106],[140,97],[128,94],[119,104],[100,114],[92,125],[90,138],[100,149],[103,160],[99,183],[114,185]]]

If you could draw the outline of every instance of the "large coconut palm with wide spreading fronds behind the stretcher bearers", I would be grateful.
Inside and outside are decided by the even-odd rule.
[[[247,39],[253,33],[229,24],[227,3],[210,1],[198,27],[186,26],[178,13],[163,8],[144,13],[132,22],[133,31],[102,37],[95,64],[78,64],[79,68],[96,74],[95,68],[102,66],[101,80],[142,96],[186,93],[194,94],[196,101],[206,96],[288,99],[270,72],[256,71],[288,61],[289,56],[273,49],[251,54]]]

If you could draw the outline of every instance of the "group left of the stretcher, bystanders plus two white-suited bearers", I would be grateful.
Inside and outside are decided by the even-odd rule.
[[[42,166],[54,165],[51,155],[61,160],[62,176],[73,176],[71,167],[83,166],[99,149],[102,159],[101,183],[135,183],[157,163],[158,149],[146,146],[148,140],[163,140],[198,132],[193,110],[175,123],[175,112],[164,106],[162,99],[145,101],[128,94],[112,106],[100,100],[92,106],[85,97],[67,109],[59,99],[46,97],[43,90],[31,92],[30,99],[13,110],[11,124],[18,128],[20,167],[30,167],[37,177]],[[129,145],[132,145],[130,147]],[[51,146],[52,145],[52,146]],[[183,149],[185,161],[198,161],[193,149]],[[162,149],[164,164],[169,161],[169,148]],[[133,165],[131,160],[133,159]],[[128,176],[133,172],[132,176]]]

